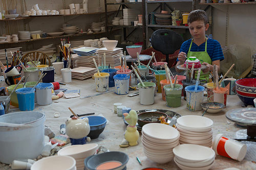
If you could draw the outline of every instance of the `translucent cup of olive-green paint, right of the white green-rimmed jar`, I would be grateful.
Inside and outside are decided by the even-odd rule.
[[[172,88],[170,84],[163,86],[166,106],[168,107],[179,107],[181,105],[181,93],[182,85],[176,84],[175,88]]]

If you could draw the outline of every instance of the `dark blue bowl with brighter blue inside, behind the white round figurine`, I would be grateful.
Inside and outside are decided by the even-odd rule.
[[[91,139],[96,139],[105,129],[106,118],[101,116],[87,116],[87,118],[89,119],[90,125],[90,133],[87,136]]]

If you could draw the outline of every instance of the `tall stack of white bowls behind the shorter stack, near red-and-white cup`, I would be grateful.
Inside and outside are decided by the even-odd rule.
[[[181,116],[177,119],[177,129],[180,132],[180,143],[199,144],[211,148],[212,126],[211,119],[197,115]]]

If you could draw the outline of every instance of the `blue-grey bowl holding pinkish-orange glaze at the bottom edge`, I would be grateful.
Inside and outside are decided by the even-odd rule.
[[[86,160],[84,160],[85,168],[89,170],[94,170],[98,167],[98,165],[107,163],[107,162],[118,162],[121,165],[116,166],[114,168],[109,168],[112,170],[121,170],[126,166],[126,163],[129,160],[129,156],[123,152],[113,151],[113,152],[104,152],[98,155],[93,155]]]

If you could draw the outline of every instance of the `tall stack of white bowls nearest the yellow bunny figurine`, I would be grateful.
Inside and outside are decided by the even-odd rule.
[[[157,163],[167,163],[174,158],[173,148],[179,144],[180,133],[177,129],[159,123],[142,127],[142,144],[146,157]]]

